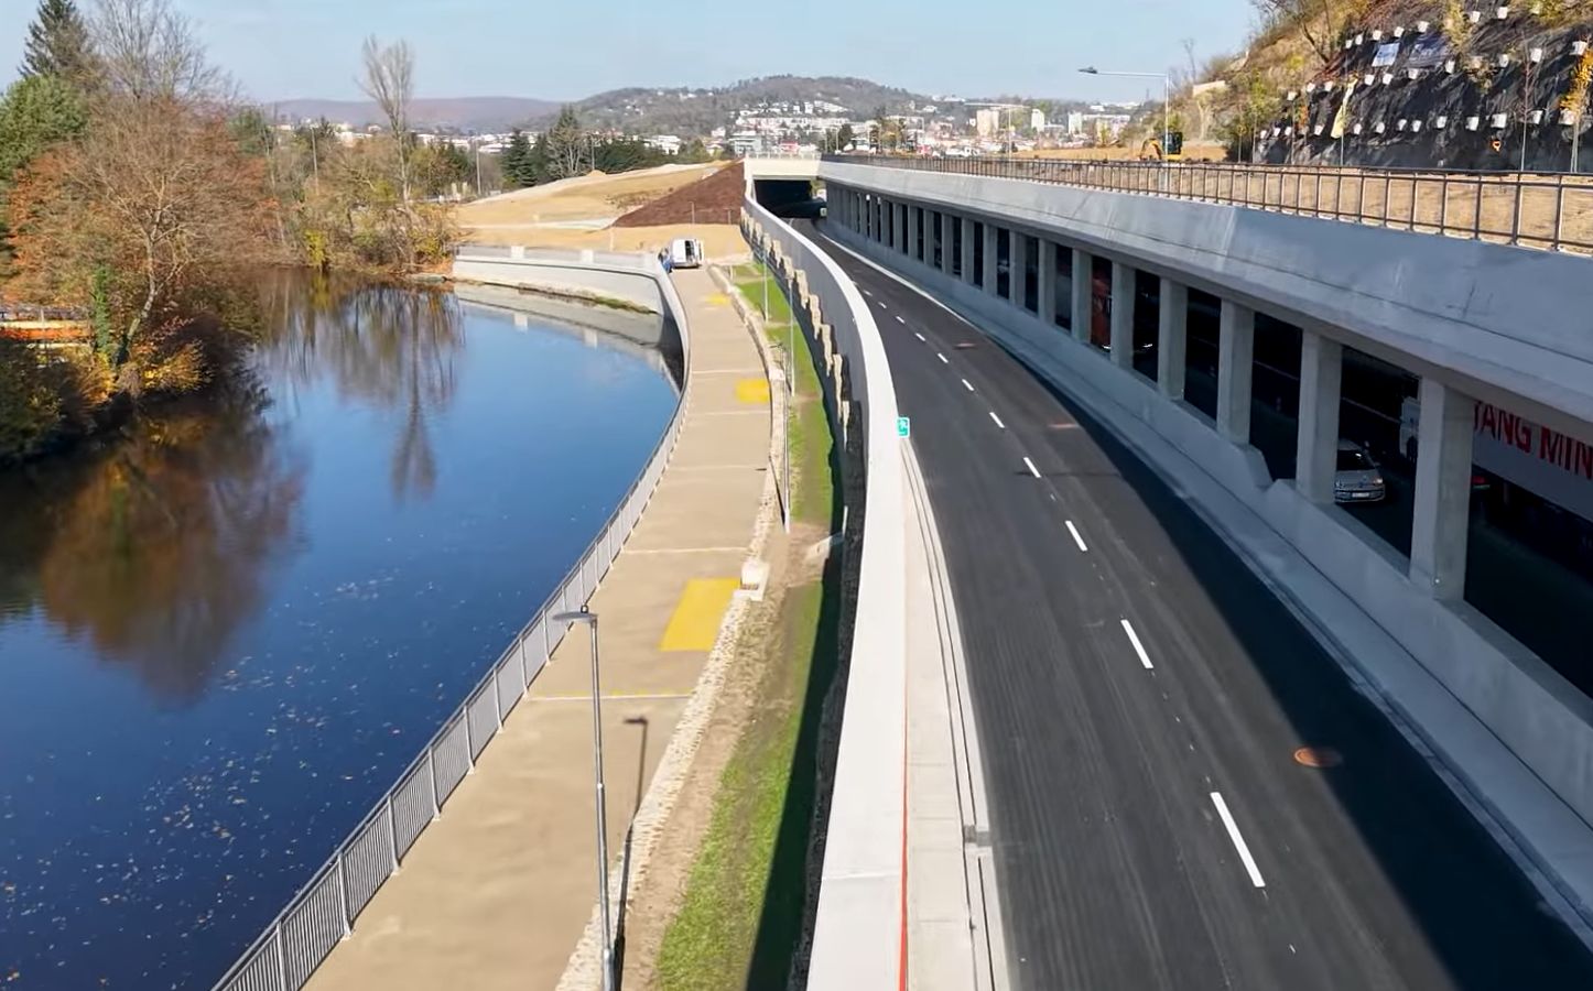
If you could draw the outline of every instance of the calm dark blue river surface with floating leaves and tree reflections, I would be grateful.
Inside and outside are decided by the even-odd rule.
[[[274,282],[258,389],[0,472],[0,988],[210,983],[658,441],[656,362]]]

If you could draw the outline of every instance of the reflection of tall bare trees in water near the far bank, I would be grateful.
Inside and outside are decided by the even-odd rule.
[[[266,287],[261,354],[285,400],[330,376],[355,403],[401,413],[392,451],[393,496],[429,496],[436,454],[429,419],[454,398],[454,354],[464,343],[449,293],[282,274]]]

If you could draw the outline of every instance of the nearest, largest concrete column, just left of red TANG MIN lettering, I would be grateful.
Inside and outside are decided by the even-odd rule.
[[[1421,379],[1410,580],[1435,599],[1466,597],[1466,539],[1472,511],[1472,414],[1477,401]]]

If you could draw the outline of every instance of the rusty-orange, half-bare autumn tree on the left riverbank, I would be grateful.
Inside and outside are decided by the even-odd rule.
[[[13,191],[18,282],[33,298],[89,307],[105,296],[105,360],[139,390],[169,360],[202,355],[172,338],[217,317],[212,303],[268,252],[264,169],[226,119],[172,99],[107,97],[88,134],[46,153]]]

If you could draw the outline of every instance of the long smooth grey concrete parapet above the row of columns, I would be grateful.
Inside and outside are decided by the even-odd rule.
[[[819,177],[1131,261],[1593,438],[1587,258],[1012,178],[843,163]]]

